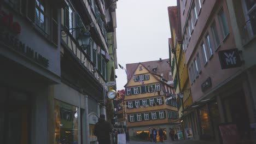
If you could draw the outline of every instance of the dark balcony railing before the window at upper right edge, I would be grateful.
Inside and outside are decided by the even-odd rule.
[[[256,37],[256,9],[248,14],[249,20],[246,21],[242,29],[242,43],[247,44]]]

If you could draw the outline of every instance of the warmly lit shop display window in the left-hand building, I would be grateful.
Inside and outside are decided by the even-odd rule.
[[[78,107],[55,100],[55,143],[78,143]]]

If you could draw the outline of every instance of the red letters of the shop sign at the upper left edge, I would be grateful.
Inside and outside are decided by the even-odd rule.
[[[21,27],[18,22],[13,21],[13,15],[7,14],[0,9],[0,21],[3,25],[9,27],[9,29],[17,34],[20,33]]]

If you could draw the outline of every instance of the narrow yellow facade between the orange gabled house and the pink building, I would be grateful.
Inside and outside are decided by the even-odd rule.
[[[170,66],[173,73],[174,88],[176,88],[176,103],[178,105],[179,121],[181,122],[182,130],[192,128],[196,136],[196,127],[194,118],[194,111],[190,111],[189,107],[193,104],[192,95],[190,91],[190,81],[188,76],[187,65],[185,64],[185,53],[181,44],[181,21],[179,21],[179,13],[176,6],[168,7],[168,16],[170,21],[171,37],[169,39],[170,51]],[[175,95],[175,96],[176,96]]]

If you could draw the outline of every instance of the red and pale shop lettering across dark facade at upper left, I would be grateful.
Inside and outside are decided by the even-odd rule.
[[[34,62],[42,65],[45,68],[49,67],[49,59],[40,55],[40,53],[33,50],[30,46],[25,45],[15,34],[19,34],[21,31],[20,24],[13,21],[13,15],[7,14],[5,11],[0,9],[0,26],[8,27],[8,29],[2,29],[0,33],[0,42],[4,45],[11,47],[21,55],[26,56]],[[4,28],[3,27],[3,28]],[[15,33],[15,34],[14,34]]]

